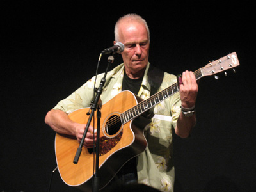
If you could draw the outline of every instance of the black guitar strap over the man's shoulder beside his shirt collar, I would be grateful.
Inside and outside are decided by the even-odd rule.
[[[150,64],[148,68],[148,82],[150,84],[150,96],[157,93],[162,81],[164,78],[163,70],[155,67],[154,65]]]

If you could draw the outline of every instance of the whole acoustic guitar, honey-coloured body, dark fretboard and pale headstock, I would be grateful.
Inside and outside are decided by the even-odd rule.
[[[239,60],[236,52],[232,52],[219,60],[212,61],[194,72],[196,79],[212,76],[237,67]],[[147,147],[147,140],[141,125],[148,124],[142,114],[179,92],[179,84],[152,95],[146,100],[140,99],[129,91],[118,93],[113,99],[102,105],[100,122],[100,150],[99,150],[99,189],[104,188],[122,166],[132,157],[138,156]],[[70,120],[79,124],[88,121],[89,108],[73,111],[68,115]],[[96,114],[95,114],[96,115]],[[93,121],[91,123],[93,125]],[[95,120],[97,127],[97,120]],[[93,175],[95,174],[95,155],[87,148],[83,148],[77,164],[73,163],[79,143],[73,136],[56,134],[55,152],[61,179],[68,186],[74,186],[82,191],[91,191]]]

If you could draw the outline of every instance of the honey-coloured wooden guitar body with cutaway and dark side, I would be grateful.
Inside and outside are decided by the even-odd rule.
[[[116,95],[102,105],[100,121],[100,150],[99,150],[99,189],[104,188],[115,174],[132,157],[137,156],[147,147],[143,129],[138,127],[141,122],[147,125],[150,121],[143,116],[127,122],[112,124],[119,119],[120,114],[140,102],[140,97],[129,91]],[[78,109],[68,115],[70,120],[79,124],[87,124],[89,108]],[[141,120],[140,118],[143,118]],[[140,120],[139,120],[140,119]],[[97,119],[95,112],[95,124]],[[91,122],[93,126],[93,120]],[[108,128],[108,129],[107,129]],[[113,129],[111,129],[113,128]],[[83,191],[92,190],[94,154],[83,148],[77,164],[73,163],[79,143],[75,137],[56,134],[55,152],[61,179],[69,186],[75,186]]]

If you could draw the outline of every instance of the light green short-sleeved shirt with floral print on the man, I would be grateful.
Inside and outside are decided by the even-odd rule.
[[[149,65],[150,63],[147,65],[141,88],[138,92],[138,96],[142,99],[150,97],[150,85],[147,76]],[[96,87],[99,87],[103,76],[104,74],[97,76]],[[123,77],[124,63],[108,72],[100,97],[103,104],[122,91]],[[61,100],[54,109],[60,109],[68,114],[76,109],[89,107],[91,100],[93,100],[94,82],[95,77],[92,77],[66,99]],[[158,92],[176,82],[176,76],[164,72],[163,82]],[[138,156],[138,182],[152,186],[160,191],[173,191],[172,127],[176,127],[177,119],[180,115],[180,104],[179,92],[177,92],[154,107],[155,115],[152,118],[152,123],[145,128],[148,147],[145,152]]]

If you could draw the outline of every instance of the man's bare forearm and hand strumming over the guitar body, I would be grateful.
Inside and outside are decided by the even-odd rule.
[[[77,141],[80,143],[83,137],[85,124],[78,124],[70,120],[67,114],[61,110],[52,109],[45,116],[45,124],[49,125],[54,131],[60,134],[69,134],[76,136]],[[96,136],[95,136],[96,140]],[[84,147],[93,147],[93,127],[90,126],[84,139]]]

